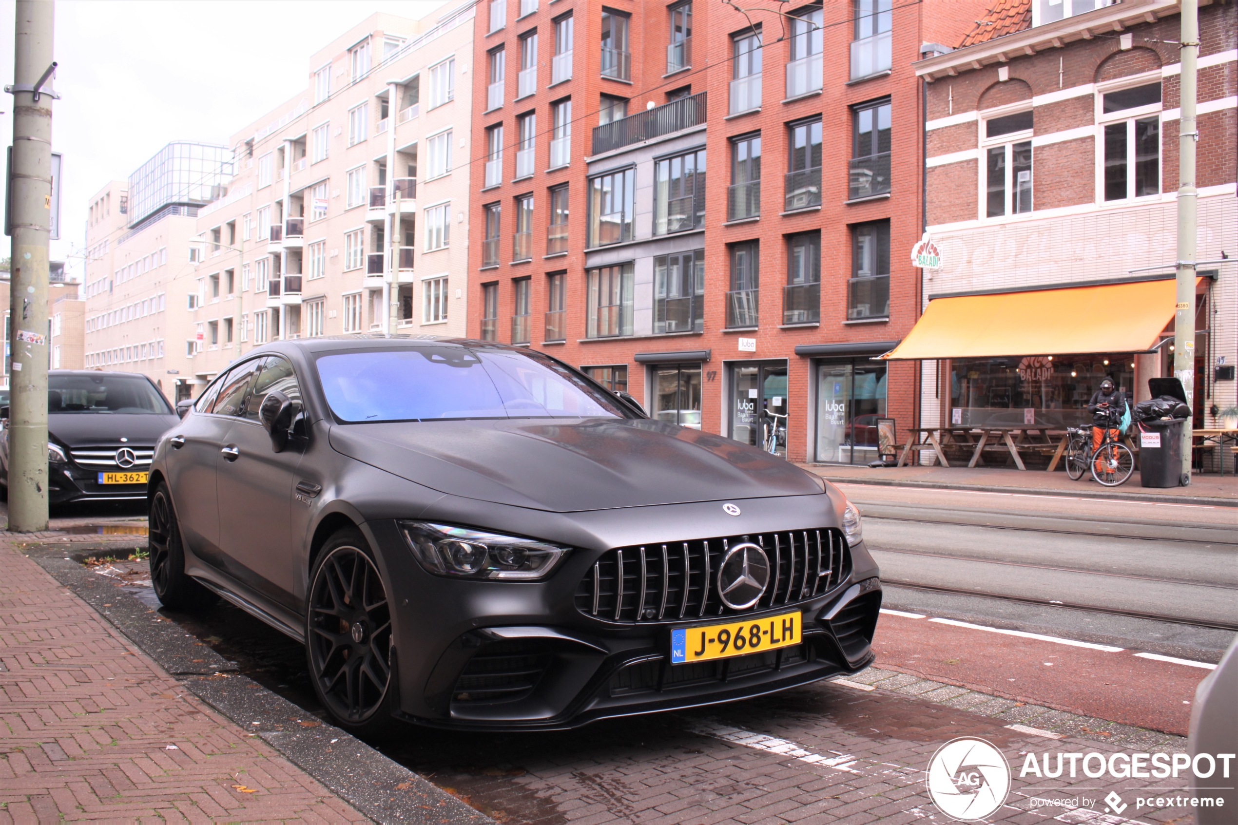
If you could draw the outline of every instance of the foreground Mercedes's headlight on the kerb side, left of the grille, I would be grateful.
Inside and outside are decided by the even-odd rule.
[[[430,573],[462,579],[534,581],[550,575],[569,548],[430,522],[400,522],[409,547]]]

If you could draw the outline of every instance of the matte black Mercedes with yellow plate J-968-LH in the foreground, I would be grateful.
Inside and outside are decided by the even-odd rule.
[[[873,659],[881,585],[837,489],[527,349],[255,349],[160,438],[149,502],[163,604],[302,641],[363,736],[566,729]]]

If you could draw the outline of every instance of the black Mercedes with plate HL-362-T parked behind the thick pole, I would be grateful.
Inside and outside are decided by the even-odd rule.
[[[4,407],[7,419],[7,407]],[[73,501],[142,501],[155,442],[180,423],[140,372],[47,374],[47,494]],[[0,430],[0,484],[9,485],[9,429]]]

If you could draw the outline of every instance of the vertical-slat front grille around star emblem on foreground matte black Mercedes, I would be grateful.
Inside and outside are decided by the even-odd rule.
[[[751,542],[765,550],[770,579],[747,610],[718,595],[718,570],[728,549]],[[813,599],[846,580],[851,554],[833,528],[644,544],[607,550],[581,579],[576,607],[613,622],[666,622],[753,610]]]

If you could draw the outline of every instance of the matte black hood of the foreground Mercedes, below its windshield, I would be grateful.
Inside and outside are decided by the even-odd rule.
[[[553,512],[821,492],[781,458],[647,419],[344,424],[329,438],[439,492]]]

